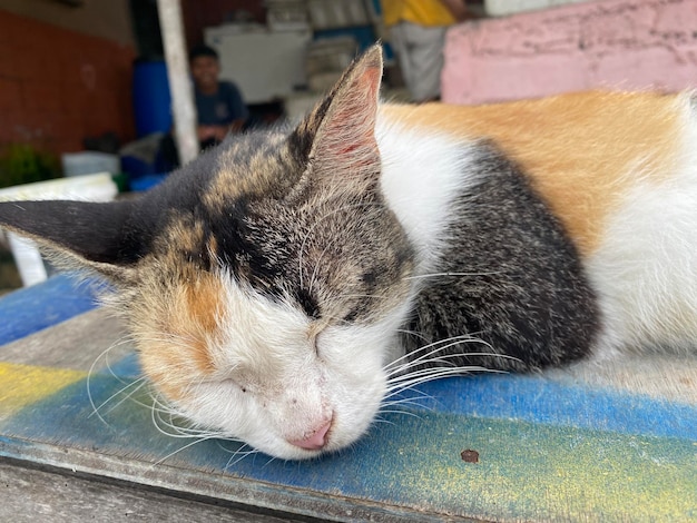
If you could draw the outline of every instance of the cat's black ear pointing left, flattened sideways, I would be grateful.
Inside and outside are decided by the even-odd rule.
[[[58,254],[63,265],[88,267],[115,283],[128,283],[135,279],[134,265],[144,247],[143,239],[127,228],[134,208],[130,201],[4,201],[0,227]]]

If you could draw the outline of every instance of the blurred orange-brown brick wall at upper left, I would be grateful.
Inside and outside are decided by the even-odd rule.
[[[106,131],[132,139],[131,46],[0,10],[0,144],[55,152]]]

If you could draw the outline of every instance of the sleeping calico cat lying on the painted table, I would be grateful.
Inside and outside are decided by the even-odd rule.
[[[115,284],[177,412],[284,458],[351,445],[419,381],[694,347],[689,96],[414,107],[381,76],[373,47],[297,126],[0,224]]]

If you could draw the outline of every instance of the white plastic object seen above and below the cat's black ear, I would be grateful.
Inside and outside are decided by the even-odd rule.
[[[0,201],[68,199],[81,201],[109,201],[118,187],[108,172],[59,178],[36,184],[0,189]],[[19,276],[26,287],[43,282],[48,274],[36,244],[13,233],[6,233]]]

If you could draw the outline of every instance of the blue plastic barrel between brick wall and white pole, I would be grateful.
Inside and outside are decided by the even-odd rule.
[[[138,137],[171,128],[171,96],[164,60],[134,63],[134,111]]]

